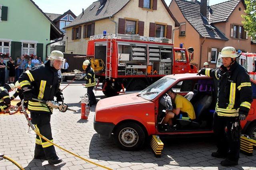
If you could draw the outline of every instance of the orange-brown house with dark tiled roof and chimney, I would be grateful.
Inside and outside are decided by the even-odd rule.
[[[237,50],[255,52],[256,45],[244,30],[241,17],[245,15],[243,0],[230,0],[207,5],[207,0],[172,0],[170,11],[180,27],[175,30],[174,46],[184,43],[194,47],[194,63],[202,67],[204,62],[216,66],[218,53],[225,46]]]

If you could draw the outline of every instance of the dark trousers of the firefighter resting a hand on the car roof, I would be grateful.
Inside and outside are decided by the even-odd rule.
[[[240,151],[240,134],[241,128],[236,129],[232,125],[236,122],[236,117],[218,116],[214,113],[213,131],[216,139],[218,152],[226,155],[229,160],[238,161]],[[227,132],[225,128],[227,127]],[[234,135],[236,134],[236,135]]]

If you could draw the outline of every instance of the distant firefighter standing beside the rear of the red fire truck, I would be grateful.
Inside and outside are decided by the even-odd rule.
[[[86,72],[85,76],[85,87],[87,88],[87,93],[89,94],[89,105],[96,105],[96,97],[93,93],[93,88],[96,86],[96,81],[95,81],[95,73],[94,70],[91,67],[90,61],[87,59],[83,63],[83,69]]]

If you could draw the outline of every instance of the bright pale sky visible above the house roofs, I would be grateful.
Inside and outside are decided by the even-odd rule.
[[[82,8],[86,9],[92,2],[96,0],[34,0],[34,2],[46,13],[63,14],[67,10],[71,10],[78,16],[82,13]],[[200,0],[199,0],[200,1]],[[210,0],[210,5],[218,4],[228,0]],[[169,6],[171,0],[165,0]]]

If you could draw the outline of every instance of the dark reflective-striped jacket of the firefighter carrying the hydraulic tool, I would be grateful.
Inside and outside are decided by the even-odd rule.
[[[25,71],[19,78],[21,89],[24,87],[32,88],[32,92],[37,99],[53,101],[54,96],[62,95],[60,83],[62,75],[60,70],[56,70],[50,66],[50,61],[44,64],[39,64],[30,70]],[[49,108],[44,103],[30,100],[28,101],[28,111],[39,113],[52,113],[52,108]]]

